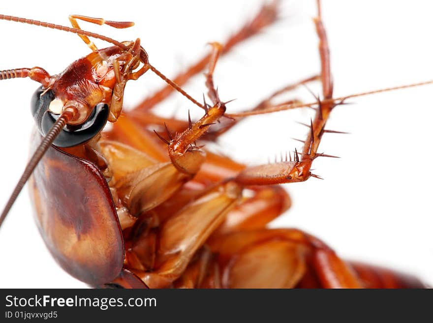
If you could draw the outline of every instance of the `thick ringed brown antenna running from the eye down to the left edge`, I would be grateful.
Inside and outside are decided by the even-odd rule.
[[[9,197],[9,200],[6,203],[6,206],[4,206],[3,211],[0,215],[0,227],[6,218],[7,213],[9,212],[10,208],[14,204],[15,200],[17,199],[18,195],[20,194],[21,190],[23,189],[24,185],[26,184],[27,180],[33,173],[34,168],[39,163],[45,152],[48,150],[48,148],[51,146],[51,144],[54,142],[56,137],[60,134],[65,124],[73,117],[74,112],[71,110],[65,110],[62,115],[57,119],[57,121],[53,124],[51,129],[48,131],[45,138],[40,143],[39,147],[37,147],[36,151],[33,153],[33,156],[31,156],[30,161],[27,163],[26,169],[23,172],[23,175],[21,175],[20,180],[18,181],[17,185],[15,186],[12,194]]]

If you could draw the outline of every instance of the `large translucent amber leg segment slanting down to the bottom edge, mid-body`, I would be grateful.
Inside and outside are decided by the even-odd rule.
[[[242,188],[228,181],[207,191],[167,219],[159,231],[155,269],[143,273],[140,278],[150,288],[166,287],[159,284],[171,284],[176,280],[241,195]]]

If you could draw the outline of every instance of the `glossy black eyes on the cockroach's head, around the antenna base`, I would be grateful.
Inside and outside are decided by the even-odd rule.
[[[31,113],[41,135],[45,134],[53,126],[59,115],[49,111],[50,103],[55,99],[52,90],[43,95],[42,87],[38,88],[31,98]],[[54,145],[58,147],[72,147],[83,144],[96,136],[107,123],[109,108],[105,103],[97,104],[91,116],[82,124],[66,125],[57,136]]]

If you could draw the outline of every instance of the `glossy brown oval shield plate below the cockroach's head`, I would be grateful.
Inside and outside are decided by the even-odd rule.
[[[40,143],[34,136],[32,149]],[[36,224],[56,261],[93,286],[122,270],[124,241],[108,184],[91,162],[50,147],[30,181]]]

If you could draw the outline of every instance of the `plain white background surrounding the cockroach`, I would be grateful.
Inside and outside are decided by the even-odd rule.
[[[140,37],[150,60],[171,76],[223,41],[257,10],[261,1],[8,1],[4,14],[68,25],[72,13],[107,20],[134,21],[115,30],[82,24],[119,40]],[[67,3],[67,2],[65,2]],[[319,70],[313,0],[287,0],[282,17],[260,36],[236,47],[218,62],[215,80],[223,100],[237,98],[230,111],[252,106],[273,90]],[[431,1],[324,0],[323,19],[331,47],[335,95],[397,86],[433,78]],[[89,53],[74,34],[0,21],[0,69],[39,65],[50,73]],[[106,43],[95,41],[99,47]],[[151,72],[130,82],[125,105],[133,106],[162,81]],[[0,84],[1,185],[4,205],[28,158],[33,120],[29,105],[38,84],[8,80]],[[315,92],[318,88],[312,87]],[[205,91],[199,76],[186,87]],[[386,265],[433,284],[432,148],[433,86],[350,100],[336,108],[328,128],[350,135],[325,134],[319,151],[341,159],[314,163],[315,178],[286,185],[293,207],[274,226],[297,227],[317,235],[347,259]],[[297,94],[310,101],[305,89]],[[174,95],[158,111],[186,118],[199,111]],[[251,117],[225,135],[221,150],[247,164],[266,162],[280,151],[300,147],[310,111]],[[67,180],[67,178],[65,178]],[[27,189],[0,230],[0,287],[69,288],[84,284],[52,260],[32,219]]]

